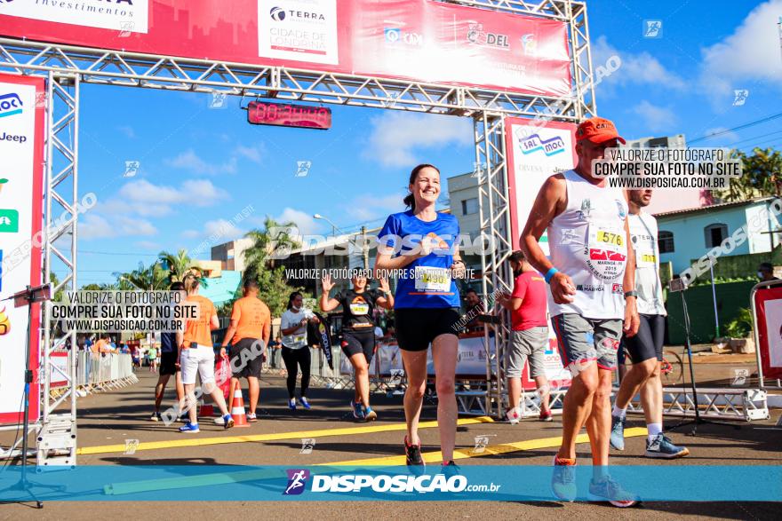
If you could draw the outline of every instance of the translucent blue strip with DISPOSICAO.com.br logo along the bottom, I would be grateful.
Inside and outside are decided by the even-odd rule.
[[[536,465],[463,465],[447,474],[439,465],[93,465],[44,470],[31,492],[41,501],[555,501],[552,471]],[[10,486],[18,472],[10,467],[0,478],[0,501],[29,498]],[[573,468],[575,501],[590,499],[592,472],[589,465]],[[621,485],[617,493],[641,501],[778,501],[782,493],[779,465],[616,465],[610,478]]]

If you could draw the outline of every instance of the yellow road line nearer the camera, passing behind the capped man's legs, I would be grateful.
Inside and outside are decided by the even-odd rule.
[[[632,429],[625,430],[625,438],[634,438],[636,436],[646,436],[645,427],[634,427]],[[576,443],[586,443],[589,438],[586,434],[579,434],[576,438]],[[541,448],[552,448],[562,445],[562,437],[555,438],[539,438],[528,439],[526,441],[517,441],[515,443],[503,443],[499,445],[487,446],[483,449],[483,452],[475,453],[475,449],[460,448],[453,451],[454,460],[463,460],[465,458],[475,458],[477,456],[494,456],[498,454],[515,453],[518,451],[529,451]],[[443,453],[440,451],[424,453],[422,454],[424,461],[427,463],[441,462],[443,461]],[[404,465],[404,456],[383,456],[380,458],[366,458],[363,460],[347,460],[345,462],[332,462],[323,463],[323,465],[330,465],[334,467],[339,466],[358,466],[358,467],[371,467],[375,465],[381,466],[394,466]]]

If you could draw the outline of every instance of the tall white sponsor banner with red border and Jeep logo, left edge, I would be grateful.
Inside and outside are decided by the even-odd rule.
[[[29,9],[33,3],[19,4]],[[36,421],[39,412],[40,304],[33,306],[30,323],[28,308],[14,307],[6,299],[28,285],[41,283],[41,249],[32,239],[41,230],[43,220],[44,107],[36,99],[44,92],[43,78],[0,74],[0,423],[22,420],[25,346],[30,329],[30,365],[34,374],[30,389],[31,422]],[[60,362],[57,356],[53,360]],[[68,367],[67,362],[58,367]],[[52,382],[60,380],[60,375],[52,374]]]

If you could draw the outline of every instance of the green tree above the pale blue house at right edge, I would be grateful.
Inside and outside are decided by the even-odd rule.
[[[717,199],[746,201],[782,194],[782,153],[772,148],[755,147],[752,154],[733,150],[731,155],[741,161],[742,175],[731,179],[727,189],[715,191]]]

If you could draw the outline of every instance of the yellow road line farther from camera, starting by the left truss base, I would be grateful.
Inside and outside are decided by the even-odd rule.
[[[473,425],[475,423],[494,422],[489,416],[478,416],[477,418],[462,418],[459,425]],[[421,422],[419,429],[431,429],[437,426],[436,421]],[[320,429],[320,430],[297,430],[293,432],[278,432],[270,434],[250,434],[247,436],[226,436],[223,438],[187,438],[170,439],[164,441],[148,441],[140,443],[136,447],[136,452],[145,450],[156,450],[162,448],[175,448],[182,446],[205,446],[222,445],[226,443],[244,443],[248,441],[276,441],[280,439],[293,438],[325,438],[328,436],[350,436],[353,434],[371,434],[375,432],[391,432],[395,430],[406,430],[404,423],[392,423],[389,425],[366,425],[363,427],[343,427],[340,429]],[[183,435],[184,436],[184,435]],[[77,449],[76,454],[107,454],[124,453],[127,447],[124,445],[104,445],[104,446],[83,446]]]

